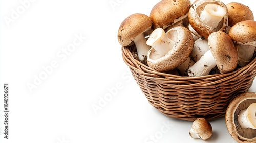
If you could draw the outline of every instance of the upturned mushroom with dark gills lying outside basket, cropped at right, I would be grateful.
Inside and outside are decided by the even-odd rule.
[[[256,142],[256,93],[244,92],[229,103],[225,122],[237,142]]]

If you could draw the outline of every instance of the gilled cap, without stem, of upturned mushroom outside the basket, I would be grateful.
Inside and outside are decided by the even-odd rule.
[[[227,107],[225,116],[227,130],[237,142],[256,142],[256,130],[242,128],[237,119],[239,112],[247,109],[251,103],[256,103],[256,93],[245,92],[232,99]]]

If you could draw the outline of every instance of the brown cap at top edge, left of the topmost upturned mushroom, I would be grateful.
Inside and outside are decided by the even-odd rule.
[[[150,12],[153,28],[167,28],[182,20],[188,14],[191,2],[189,0],[162,0]]]

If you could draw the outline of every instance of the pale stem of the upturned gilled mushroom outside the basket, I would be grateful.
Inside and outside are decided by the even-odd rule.
[[[256,129],[256,103],[252,103],[247,109],[240,111],[238,122],[245,129]]]

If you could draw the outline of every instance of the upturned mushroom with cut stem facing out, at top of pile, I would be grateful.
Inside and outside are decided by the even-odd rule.
[[[191,27],[196,32],[194,34],[207,39],[212,32],[226,32],[228,24],[227,7],[221,1],[199,0],[191,6],[188,19]]]

